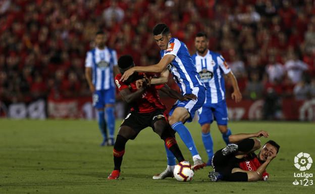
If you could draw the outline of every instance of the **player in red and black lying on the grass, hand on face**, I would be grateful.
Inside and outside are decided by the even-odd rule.
[[[259,131],[254,134],[235,134],[229,137],[232,144],[217,151],[212,159],[213,172],[209,172],[211,181],[257,181],[268,180],[266,172],[268,164],[277,156],[280,146],[270,140],[258,155],[254,153],[260,148],[258,139],[268,138],[266,131]]]

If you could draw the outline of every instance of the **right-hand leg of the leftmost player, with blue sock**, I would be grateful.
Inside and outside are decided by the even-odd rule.
[[[109,145],[114,145],[114,134],[115,134],[115,88],[105,91],[104,102],[106,104],[106,117],[109,129]]]

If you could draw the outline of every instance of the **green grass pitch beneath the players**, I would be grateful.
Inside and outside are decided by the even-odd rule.
[[[116,122],[117,128],[120,123]],[[206,161],[198,123],[186,126]],[[229,126],[234,134],[266,130],[281,145],[268,167],[269,181],[210,182],[211,167],[195,172],[191,182],[153,180],[152,175],[166,168],[166,156],[163,141],[150,128],[127,143],[119,180],[107,180],[113,169],[113,147],[99,147],[96,121],[1,119],[0,193],[314,193],[314,185],[292,184],[293,173],[299,172],[294,156],[306,152],[315,161],[314,123],[231,121]],[[224,147],[215,125],[212,135],[215,150]],[[178,137],[177,141],[191,161],[188,149]],[[307,172],[315,173],[315,164]]]

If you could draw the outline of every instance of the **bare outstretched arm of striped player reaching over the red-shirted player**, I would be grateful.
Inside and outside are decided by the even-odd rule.
[[[134,72],[143,72],[143,73],[162,73],[167,65],[172,62],[175,58],[173,54],[167,54],[163,56],[163,58],[159,61],[158,64],[153,64],[152,66],[145,66],[145,67],[133,67],[127,70],[124,75],[121,77],[120,81],[124,82],[127,80]]]

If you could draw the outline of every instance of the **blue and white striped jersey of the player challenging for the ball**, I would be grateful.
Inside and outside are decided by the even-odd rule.
[[[191,93],[192,88],[203,86],[199,74],[193,65],[187,46],[177,38],[171,38],[168,48],[160,51],[161,57],[167,54],[175,56],[168,69],[179,86],[182,94]],[[204,86],[203,86],[204,87]]]

